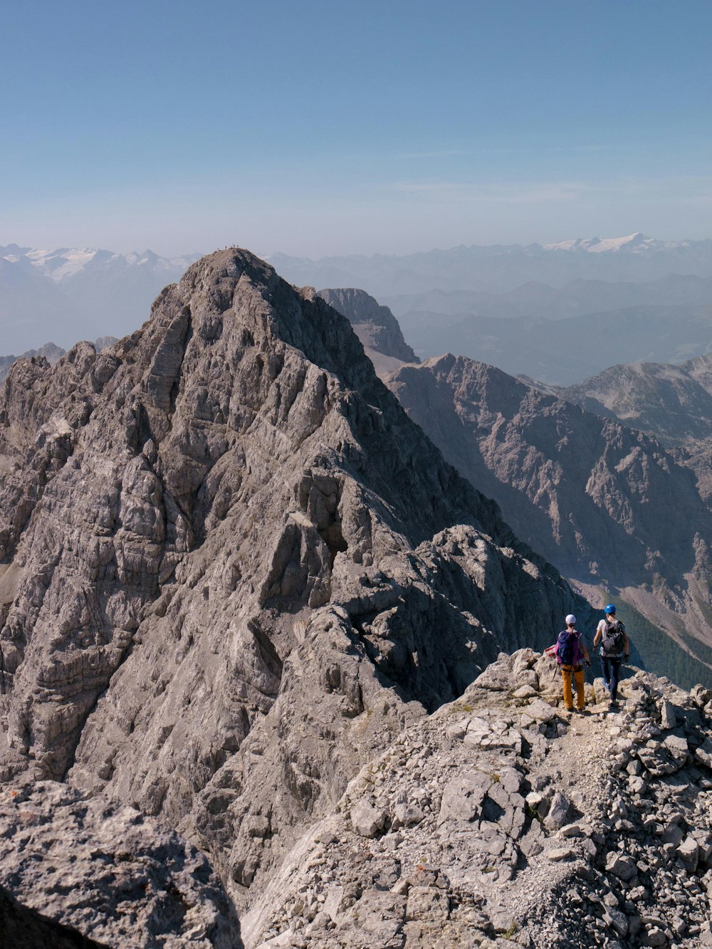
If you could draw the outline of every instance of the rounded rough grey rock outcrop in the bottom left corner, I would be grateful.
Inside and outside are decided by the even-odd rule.
[[[3,793],[0,885],[19,904],[20,919],[40,913],[73,934],[67,945],[242,945],[233,905],[195,847],[136,809],[84,799],[65,784]]]

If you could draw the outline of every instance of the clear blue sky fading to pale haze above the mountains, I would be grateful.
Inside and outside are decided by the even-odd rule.
[[[0,244],[712,236],[709,0],[34,0],[0,28]]]

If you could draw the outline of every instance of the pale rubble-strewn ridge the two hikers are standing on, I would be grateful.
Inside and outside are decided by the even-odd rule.
[[[712,692],[636,671],[568,713],[501,655],[403,731],[243,921],[300,949],[712,945]]]

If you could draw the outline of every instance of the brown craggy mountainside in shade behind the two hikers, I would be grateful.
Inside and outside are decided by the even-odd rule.
[[[638,608],[653,623],[678,635],[684,615],[687,631],[712,642],[712,516],[693,474],[655,439],[461,356],[386,381],[460,474],[562,572],[642,589]]]

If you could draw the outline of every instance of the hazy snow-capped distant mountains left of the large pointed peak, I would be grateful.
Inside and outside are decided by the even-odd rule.
[[[68,348],[78,340],[132,332],[136,314],[147,312],[198,256],[0,247],[2,349],[24,352],[47,339]]]

